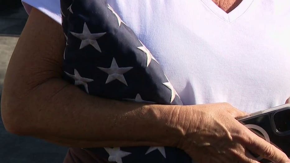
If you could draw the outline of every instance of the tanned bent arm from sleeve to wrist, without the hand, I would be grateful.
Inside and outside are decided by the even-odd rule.
[[[62,27],[32,9],[3,88],[2,118],[8,131],[89,142],[69,144],[79,147],[176,145],[183,131],[170,117],[178,117],[178,106],[87,95],[61,79],[64,45]]]

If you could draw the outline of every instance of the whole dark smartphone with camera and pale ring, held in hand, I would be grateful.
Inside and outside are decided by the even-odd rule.
[[[255,112],[239,118],[238,121],[290,158],[290,104]],[[253,153],[252,155],[261,163],[272,162]]]

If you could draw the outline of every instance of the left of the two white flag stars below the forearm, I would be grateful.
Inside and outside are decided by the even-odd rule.
[[[112,162],[115,161],[117,163],[123,163],[122,157],[125,157],[131,154],[130,152],[121,151],[120,147],[105,148],[105,150],[109,153],[108,161],[112,161]]]

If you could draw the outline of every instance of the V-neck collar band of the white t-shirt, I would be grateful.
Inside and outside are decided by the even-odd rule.
[[[238,17],[243,15],[250,7],[254,0],[242,0],[242,2],[234,8],[231,12],[227,13],[217,6],[212,0],[201,0],[214,14],[229,23],[235,21]]]

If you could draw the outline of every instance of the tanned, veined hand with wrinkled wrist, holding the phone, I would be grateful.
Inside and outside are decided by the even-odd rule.
[[[266,142],[236,118],[245,113],[227,103],[186,108],[184,137],[179,148],[199,163],[258,163],[247,150],[275,163],[289,161],[285,153]],[[188,116],[189,114],[190,117]],[[189,120],[187,119],[189,118]]]

